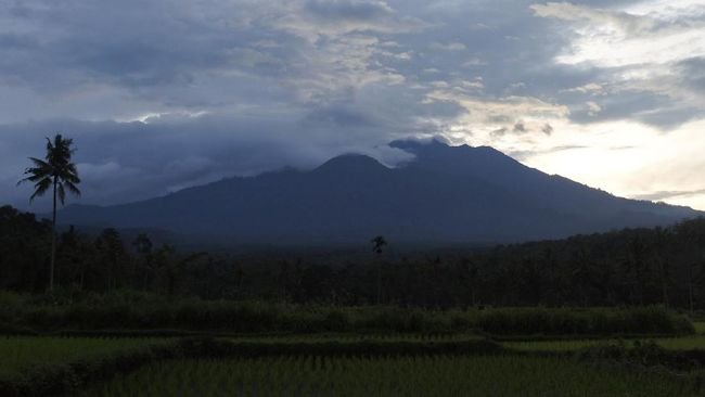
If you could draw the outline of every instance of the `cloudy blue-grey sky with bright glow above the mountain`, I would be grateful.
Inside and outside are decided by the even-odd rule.
[[[4,0],[0,203],[56,132],[85,204],[444,137],[705,210],[705,0]]]

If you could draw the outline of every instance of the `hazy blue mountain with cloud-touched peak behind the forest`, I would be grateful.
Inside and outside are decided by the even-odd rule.
[[[230,178],[116,206],[73,205],[64,223],[158,228],[238,243],[497,243],[669,225],[691,208],[616,197],[491,148],[396,141],[397,168],[357,154],[310,171]]]

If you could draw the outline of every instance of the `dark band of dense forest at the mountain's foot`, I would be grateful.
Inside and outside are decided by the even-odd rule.
[[[0,207],[0,289],[43,292],[51,222]],[[406,255],[394,242],[321,262],[178,252],[140,233],[65,229],[57,240],[61,291],[139,290],[205,299],[413,307],[640,306],[705,309],[705,219],[484,248]],[[367,259],[361,259],[367,258]],[[381,292],[377,291],[381,284]],[[380,294],[380,296],[377,295]]]

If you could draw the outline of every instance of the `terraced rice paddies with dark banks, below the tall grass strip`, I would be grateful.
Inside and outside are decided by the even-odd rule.
[[[674,342],[681,347],[670,349]],[[705,335],[500,343],[472,335],[8,336],[2,396],[701,396]]]

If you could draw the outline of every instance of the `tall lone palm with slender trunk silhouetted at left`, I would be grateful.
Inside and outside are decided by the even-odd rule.
[[[66,191],[75,195],[80,195],[76,187],[80,183],[76,165],[70,162],[70,156],[76,152],[72,149],[73,139],[64,139],[61,133],[56,133],[54,140],[47,138],[47,155],[44,159],[29,157],[33,167],[25,170],[25,179],[17,182],[33,182],[35,192],[29,197],[33,202],[36,197],[44,195],[49,189],[53,188],[53,209],[51,222],[51,265],[49,268],[49,291],[54,289],[54,259],[56,256],[56,197],[62,205],[66,198]]]

